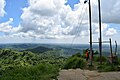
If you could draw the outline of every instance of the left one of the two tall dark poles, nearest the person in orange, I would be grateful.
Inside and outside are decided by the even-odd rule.
[[[90,65],[92,65],[92,21],[91,21],[91,3],[89,0],[89,24],[90,24]]]

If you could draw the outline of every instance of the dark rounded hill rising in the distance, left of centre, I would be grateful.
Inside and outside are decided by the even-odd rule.
[[[31,51],[33,53],[43,53],[43,52],[46,52],[46,51],[49,51],[49,50],[53,50],[53,49],[48,48],[48,47],[39,46],[39,47],[36,47],[36,48],[27,49],[25,51]]]

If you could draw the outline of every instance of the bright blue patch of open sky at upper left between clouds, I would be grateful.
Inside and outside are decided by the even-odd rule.
[[[11,24],[12,26],[18,26],[21,19],[20,16],[22,14],[22,8],[28,6],[27,0],[5,0],[6,6],[5,11],[6,14],[4,17],[0,19],[0,23],[6,22],[9,18],[13,18],[14,21]]]

